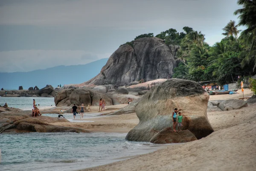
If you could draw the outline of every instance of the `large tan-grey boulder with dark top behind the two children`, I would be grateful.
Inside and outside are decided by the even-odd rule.
[[[195,81],[172,78],[152,87],[141,97],[135,112],[139,124],[126,136],[131,141],[150,141],[160,130],[172,127],[172,112],[182,109],[183,129],[198,139],[214,130],[207,118],[208,93]]]

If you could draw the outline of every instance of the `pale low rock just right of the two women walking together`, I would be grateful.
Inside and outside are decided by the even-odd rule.
[[[139,99],[140,97],[130,95],[130,94],[116,94],[116,93],[106,93],[106,96],[108,96],[112,101],[113,105],[116,104],[128,104],[128,98],[131,99]]]

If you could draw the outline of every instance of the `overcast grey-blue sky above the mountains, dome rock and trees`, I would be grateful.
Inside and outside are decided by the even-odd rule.
[[[87,64],[138,35],[184,26],[213,45],[240,8],[236,0],[1,0],[0,72]]]

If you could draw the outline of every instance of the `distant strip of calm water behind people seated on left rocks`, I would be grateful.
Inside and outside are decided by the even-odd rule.
[[[15,107],[22,110],[31,110],[33,107],[33,99],[35,103],[40,104],[41,107],[55,107],[53,97],[0,97],[0,105],[3,106],[5,103],[8,107]]]

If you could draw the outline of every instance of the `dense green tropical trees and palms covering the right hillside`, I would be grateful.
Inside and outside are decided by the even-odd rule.
[[[239,23],[236,25],[230,20],[222,29],[226,37],[213,46],[205,42],[204,34],[188,26],[183,27],[184,32],[168,29],[155,36],[165,40],[167,45],[180,46],[173,78],[217,80],[223,85],[238,81],[239,75],[256,74],[256,0],[238,0],[237,3],[242,6],[234,12]],[[246,29],[238,30],[238,26],[246,26]],[[153,36],[153,33],[143,34],[134,40]],[[133,42],[125,44],[133,46]]]

